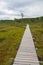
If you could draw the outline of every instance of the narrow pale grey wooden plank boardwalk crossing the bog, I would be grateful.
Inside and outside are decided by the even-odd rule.
[[[28,24],[13,65],[40,65]]]

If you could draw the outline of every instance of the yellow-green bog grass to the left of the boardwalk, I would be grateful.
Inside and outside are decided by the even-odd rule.
[[[24,30],[24,25],[0,24],[0,65],[12,65]]]

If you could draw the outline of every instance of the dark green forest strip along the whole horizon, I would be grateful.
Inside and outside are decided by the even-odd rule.
[[[14,20],[0,20],[0,23],[6,23],[6,24],[16,24],[16,23],[38,23],[38,22],[43,22],[43,17],[37,17],[37,18],[23,18],[23,19],[14,19]]]

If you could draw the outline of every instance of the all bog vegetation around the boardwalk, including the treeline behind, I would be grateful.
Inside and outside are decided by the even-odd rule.
[[[43,17],[0,20],[0,65],[13,64],[26,24],[30,25],[38,59],[43,61]]]

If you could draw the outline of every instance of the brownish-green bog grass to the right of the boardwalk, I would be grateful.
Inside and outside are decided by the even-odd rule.
[[[33,40],[36,47],[36,52],[39,61],[43,61],[43,23],[32,23],[30,24],[30,29],[33,35]],[[40,65],[43,65],[43,63],[40,63]]]

